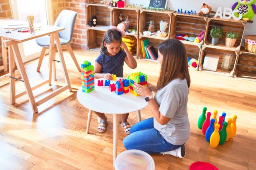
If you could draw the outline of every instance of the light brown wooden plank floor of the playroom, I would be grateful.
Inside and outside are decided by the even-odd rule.
[[[89,60],[94,64],[98,52],[74,51],[79,63]],[[65,91],[38,107],[33,114],[26,95],[15,105],[10,105],[9,85],[0,87],[0,169],[1,170],[113,170],[113,117],[105,133],[97,133],[97,117],[92,115],[89,135],[85,134],[87,109],[76,99],[80,86],[79,72],[67,52],[64,57],[69,71],[73,92]],[[41,73],[36,72],[38,60],[26,64],[31,86],[47,79],[48,57],[43,61]],[[143,71],[148,81],[156,84],[159,64],[138,60],[136,70],[124,67],[125,76]],[[63,84],[61,65],[57,63],[56,83]],[[156,170],[187,170],[195,161],[210,162],[220,170],[256,169],[256,82],[224,77],[206,72],[190,71],[191,87],[188,112],[191,136],[186,143],[187,155],[180,159],[171,155],[153,154]],[[16,82],[17,91],[23,91],[22,82]],[[53,85],[54,90],[59,85]],[[41,94],[43,90],[48,90]],[[36,100],[50,93],[51,87],[34,90]],[[237,134],[222,146],[214,149],[197,129],[197,118],[202,112],[218,110],[227,117],[238,115]],[[142,119],[152,117],[148,107],[141,111]],[[220,114],[218,114],[220,116]],[[136,113],[128,121],[138,122]],[[123,129],[119,127],[118,154],[125,150]]]

